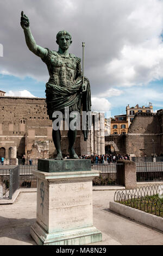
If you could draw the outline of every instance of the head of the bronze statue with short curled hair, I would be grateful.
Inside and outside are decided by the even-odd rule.
[[[59,31],[56,38],[56,42],[60,48],[66,49],[72,44],[72,36],[69,32],[65,30]]]

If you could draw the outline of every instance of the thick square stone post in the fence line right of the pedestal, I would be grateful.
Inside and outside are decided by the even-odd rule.
[[[118,183],[125,186],[126,189],[136,187],[136,164],[129,160],[118,160],[117,180]]]

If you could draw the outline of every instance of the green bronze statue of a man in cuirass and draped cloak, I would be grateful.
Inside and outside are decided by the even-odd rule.
[[[28,17],[21,13],[21,26],[24,31],[26,44],[30,51],[39,56],[47,65],[49,81],[46,83],[46,103],[49,119],[54,121],[53,112],[61,111],[64,116],[65,107],[72,111],[91,111],[91,92],[89,80],[82,76],[81,59],[68,53],[72,44],[71,34],[63,30],[57,34],[58,51],[52,51],[36,44],[30,31]],[[72,119],[70,118],[70,121]],[[83,131],[87,140],[87,130]],[[74,151],[77,130],[68,130],[68,152],[70,159],[78,159]],[[52,132],[53,142],[57,150],[56,160],[62,160],[60,130]]]

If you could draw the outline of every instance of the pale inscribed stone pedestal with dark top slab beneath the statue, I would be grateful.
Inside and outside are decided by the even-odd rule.
[[[99,171],[91,170],[91,161],[39,160],[38,167],[41,170],[33,172],[37,177],[37,217],[31,227],[36,243],[85,245],[101,241],[92,216],[92,179]]]

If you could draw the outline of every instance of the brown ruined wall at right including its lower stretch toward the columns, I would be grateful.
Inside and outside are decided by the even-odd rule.
[[[129,126],[128,134],[105,137],[105,145],[114,142],[120,153],[135,156],[152,156],[163,153],[163,111],[160,113],[137,113]]]

